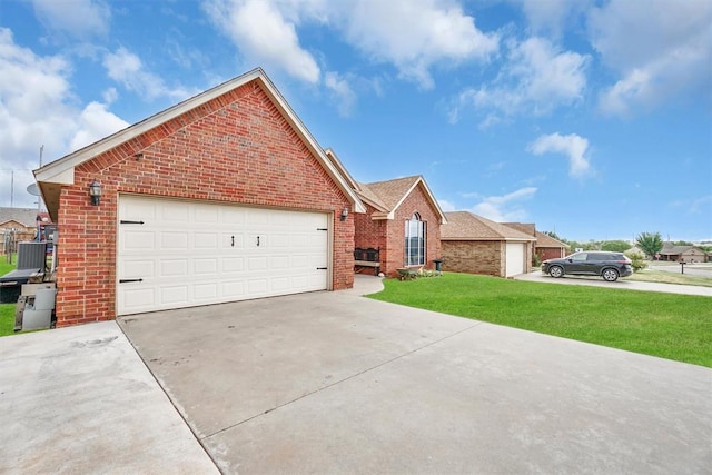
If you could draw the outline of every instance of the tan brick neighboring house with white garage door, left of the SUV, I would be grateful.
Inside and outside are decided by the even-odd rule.
[[[531,270],[534,236],[468,211],[445,217],[447,224],[441,230],[445,270],[496,277]]]

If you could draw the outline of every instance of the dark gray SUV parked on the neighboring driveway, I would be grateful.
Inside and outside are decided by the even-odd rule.
[[[583,276],[601,276],[613,283],[619,277],[633,274],[631,259],[623,253],[605,250],[584,250],[561,259],[546,259],[542,263],[542,273],[552,277],[563,277],[566,274]]]

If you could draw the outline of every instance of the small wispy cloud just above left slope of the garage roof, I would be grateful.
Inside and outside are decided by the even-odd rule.
[[[182,86],[168,87],[162,78],[146,71],[138,56],[122,47],[107,53],[102,63],[111,79],[146,100],[159,97],[182,100],[199,92]]]

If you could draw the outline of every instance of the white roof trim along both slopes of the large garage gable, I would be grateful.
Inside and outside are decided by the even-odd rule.
[[[299,132],[303,140],[306,142],[312,152],[322,162],[322,166],[326,169],[329,176],[339,185],[342,191],[354,204],[354,211],[366,212],[366,207],[356,196],[354,189],[349,186],[346,177],[334,166],[333,161],[326,156],[324,149],[319,147],[318,142],[312,136],[306,126],[297,117],[291,107],[287,103],[284,96],[277,90],[271,80],[267,77],[261,68],[254,69],[246,72],[243,76],[238,76],[227,82],[216,86],[205,92],[194,96],[185,101],[177,103],[161,112],[158,112],[142,121],[135,123],[123,130],[120,130],[105,139],[93,142],[85,148],[81,148],[72,154],[69,154],[56,161],[52,161],[44,167],[34,170],[34,178],[38,182],[56,182],[62,185],[73,184],[73,170],[79,165],[91,160],[92,158],[101,155],[119,145],[127,142],[148,130],[165,123],[169,120],[181,116],[196,107],[208,102],[225,92],[236,89],[243,85],[246,85],[253,80],[258,80],[264,86],[265,92],[270,97],[274,103],[278,107],[283,117]]]

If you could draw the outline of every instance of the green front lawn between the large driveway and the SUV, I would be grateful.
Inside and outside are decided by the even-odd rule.
[[[370,298],[712,367],[712,298],[469,274],[385,279]]]

